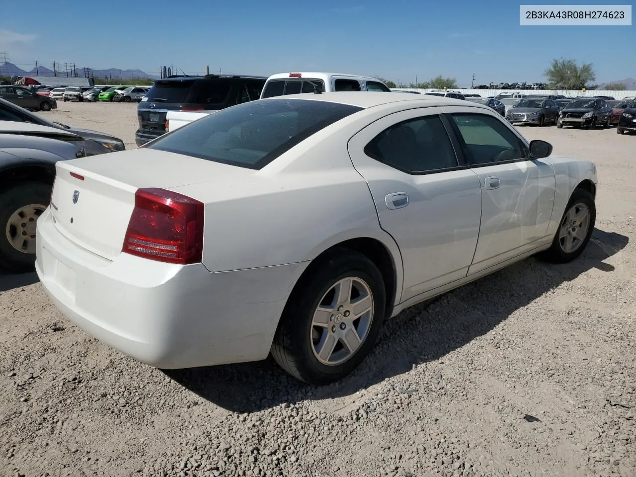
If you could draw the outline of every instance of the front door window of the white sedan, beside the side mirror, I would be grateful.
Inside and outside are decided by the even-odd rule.
[[[497,118],[478,113],[453,113],[451,116],[469,164],[527,158],[520,139]]]

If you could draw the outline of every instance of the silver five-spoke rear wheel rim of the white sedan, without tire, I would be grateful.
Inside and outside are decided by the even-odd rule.
[[[364,280],[338,280],[322,297],[314,312],[310,340],[314,356],[334,366],[356,354],[373,321],[373,295]]]

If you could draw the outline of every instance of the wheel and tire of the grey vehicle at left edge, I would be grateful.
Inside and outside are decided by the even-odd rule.
[[[36,182],[18,184],[0,194],[1,268],[11,272],[33,269],[35,225],[50,198],[51,186]]]

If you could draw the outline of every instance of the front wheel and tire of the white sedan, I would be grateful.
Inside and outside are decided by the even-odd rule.
[[[590,242],[596,222],[594,197],[586,190],[575,189],[544,259],[567,263],[577,258]]]

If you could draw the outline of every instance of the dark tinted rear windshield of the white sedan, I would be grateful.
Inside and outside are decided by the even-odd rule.
[[[193,121],[142,147],[261,169],[310,135],[362,109],[317,100],[251,101]]]

